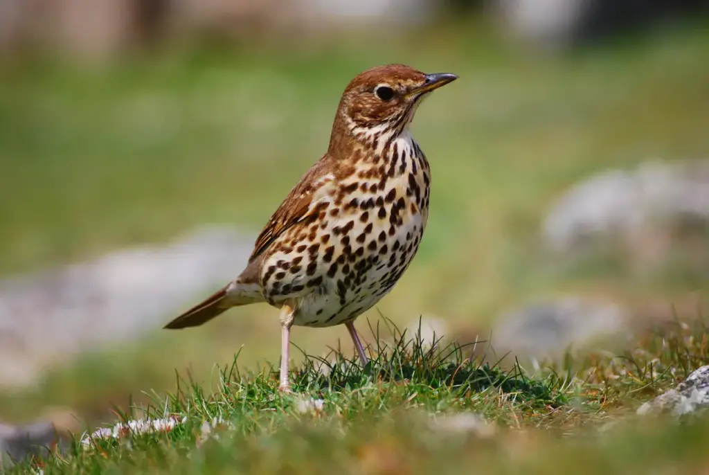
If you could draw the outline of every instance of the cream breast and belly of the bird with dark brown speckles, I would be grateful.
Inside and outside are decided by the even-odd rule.
[[[408,133],[311,203],[262,267],[264,297],[295,301],[294,325],[339,325],[372,308],[413,259],[428,219],[430,168]]]

